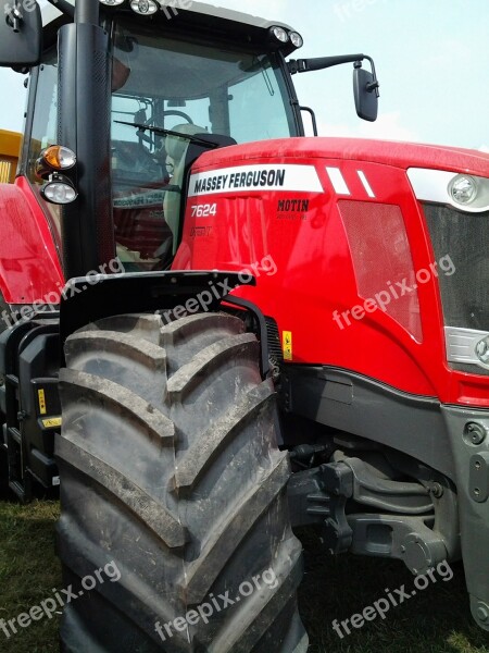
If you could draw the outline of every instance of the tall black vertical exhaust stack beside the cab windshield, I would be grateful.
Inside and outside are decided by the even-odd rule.
[[[63,270],[87,274],[115,254],[110,169],[110,41],[101,27],[60,29],[58,138],[77,164],[67,172],[78,197],[62,207]]]

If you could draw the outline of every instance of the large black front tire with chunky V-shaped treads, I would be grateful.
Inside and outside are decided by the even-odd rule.
[[[62,651],[303,653],[289,463],[254,335],[225,313],[117,316],[65,353]]]

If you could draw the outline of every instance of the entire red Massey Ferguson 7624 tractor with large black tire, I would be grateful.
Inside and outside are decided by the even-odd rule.
[[[489,630],[489,156],[305,138],[294,74],[352,63],[366,120],[378,82],[287,25],[52,4],[0,22],[0,406],[10,488],[61,479],[62,650],[305,651],[301,525],[462,557]]]

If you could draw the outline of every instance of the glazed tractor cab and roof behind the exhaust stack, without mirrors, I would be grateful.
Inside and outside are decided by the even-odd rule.
[[[97,146],[106,148],[103,167],[111,175],[117,257],[127,271],[162,270],[177,247],[190,144],[200,144],[200,152],[303,134],[285,61],[302,38],[286,25],[197,2],[191,11],[166,8],[151,16],[145,15],[142,5],[133,5],[135,10],[100,4],[100,25],[110,35],[108,88],[101,91],[108,103],[110,138]],[[65,100],[58,91],[57,35],[72,20],[70,7],[63,5],[64,14],[51,5],[42,9],[43,54],[32,71],[32,111],[21,170],[60,248],[59,198],[43,192],[46,175],[39,174],[38,161],[49,146],[66,145],[58,131]],[[75,93],[73,84],[73,79],[63,84],[64,97]],[[92,89],[84,93],[90,95]],[[100,110],[101,119],[103,113]],[[73,139],[84,134],[71,136],[78,170],[66,176],[78,195],[83,192],[77,185],[79,169],[91,167],[92,152],[88,152],[89,161],[82,161]]]

